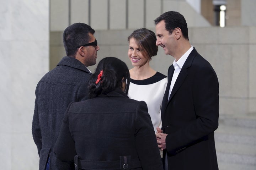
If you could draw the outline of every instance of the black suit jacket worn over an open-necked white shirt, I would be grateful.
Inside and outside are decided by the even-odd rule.
[[[161,113],[162,130],[168,134],[166,150],[169,170],[217,170],[214,143],[219,117],[217,75],[209,62],[193,49],[168,101],[173,73],[171,65]]]

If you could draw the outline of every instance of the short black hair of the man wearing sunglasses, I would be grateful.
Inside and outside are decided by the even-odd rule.
[[[85,23],[74,23],[67,27],[63,32],[63,44],[66,55],[75,57],[77,46],[87,44],[90,41],[89,34],[94,34],[94,29]]]

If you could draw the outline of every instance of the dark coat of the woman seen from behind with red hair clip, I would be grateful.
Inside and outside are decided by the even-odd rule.
[[[79,155],[85,169],[119,169],[120,156],[130,156],[129,168],[162,170],[146,103],[129,99],[121,89],[71,103],[54,152],[62,161]]]

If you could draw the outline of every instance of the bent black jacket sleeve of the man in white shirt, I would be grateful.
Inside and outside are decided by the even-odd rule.
[[[196,119],[167,135],[166,148],[171,154],[203,140],[218,128],[219,84],[211,66],[201,67],[193,77],[191,100],[194,109],[190,114],[195,114]]]

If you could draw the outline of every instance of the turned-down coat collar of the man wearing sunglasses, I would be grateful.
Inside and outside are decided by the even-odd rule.
[[[69,56],[63,57],[57,66],[59,66],[59,65],[73,67],[73,68],[76,68],[76,69],[79,69],[79,70],[82,70],[82,71],[85,71],[85,72],[91,74],[89,69],[84,64],[82,64],[79,60],[77,60],[73,57],[69,57]]]

